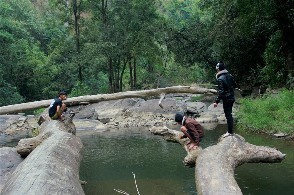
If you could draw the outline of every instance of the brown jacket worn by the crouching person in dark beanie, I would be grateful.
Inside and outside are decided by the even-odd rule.
[[[194,119],[185,117],[184,122],[183,122],[183,126],[185,126],[191,132],[191,134],[194,136],[195,146],[199,146],[199,138],[204,137],[204,131],[203,131],[203,127],[201,126],[201,124]],[[184,138],[186,138],[186,137],[187,136],[184,135]]]

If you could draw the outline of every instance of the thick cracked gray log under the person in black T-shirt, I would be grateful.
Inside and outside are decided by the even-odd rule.
[[[16,168],[2,194],[84,194],[79,180],[83,144],[72,122],[50,120],[41,124],[39,135],[21,139],[17,152],[27,156]],[[38,146],[38,147],[37,147]]]

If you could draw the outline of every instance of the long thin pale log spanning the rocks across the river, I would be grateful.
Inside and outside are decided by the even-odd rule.
[[[68,98],[62,101],[67,106],[78,105],[80,102],[101,102],[109,100],[119,100],[125,98],[138,98],[138,97],[148,97],[153,95],[163,95],[168,93],[194,93],[194,94],[218,94],[217,90],[206,89],[206,88],[195,88],[189,86],[174,86],[159,89],[150,89],[143,91],[125,91],[112,94],[98,94],[98,95],[84,95],[74,98]],[[162,101],[162,100],[161,100]],[[42,100],[37,102],[28,102],[23,104],[15,104],[0,107],[0,114],[8,114],[12,112],[19,112],[25,110],[35,110],[38,108],[46,108],[51,104],[52,100]],[[160,107],[161,102],[159,102]]]

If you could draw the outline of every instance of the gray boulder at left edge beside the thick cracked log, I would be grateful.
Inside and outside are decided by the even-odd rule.
[[[0,148],[0,192],[16,167],[24,160],[16,148]]]

